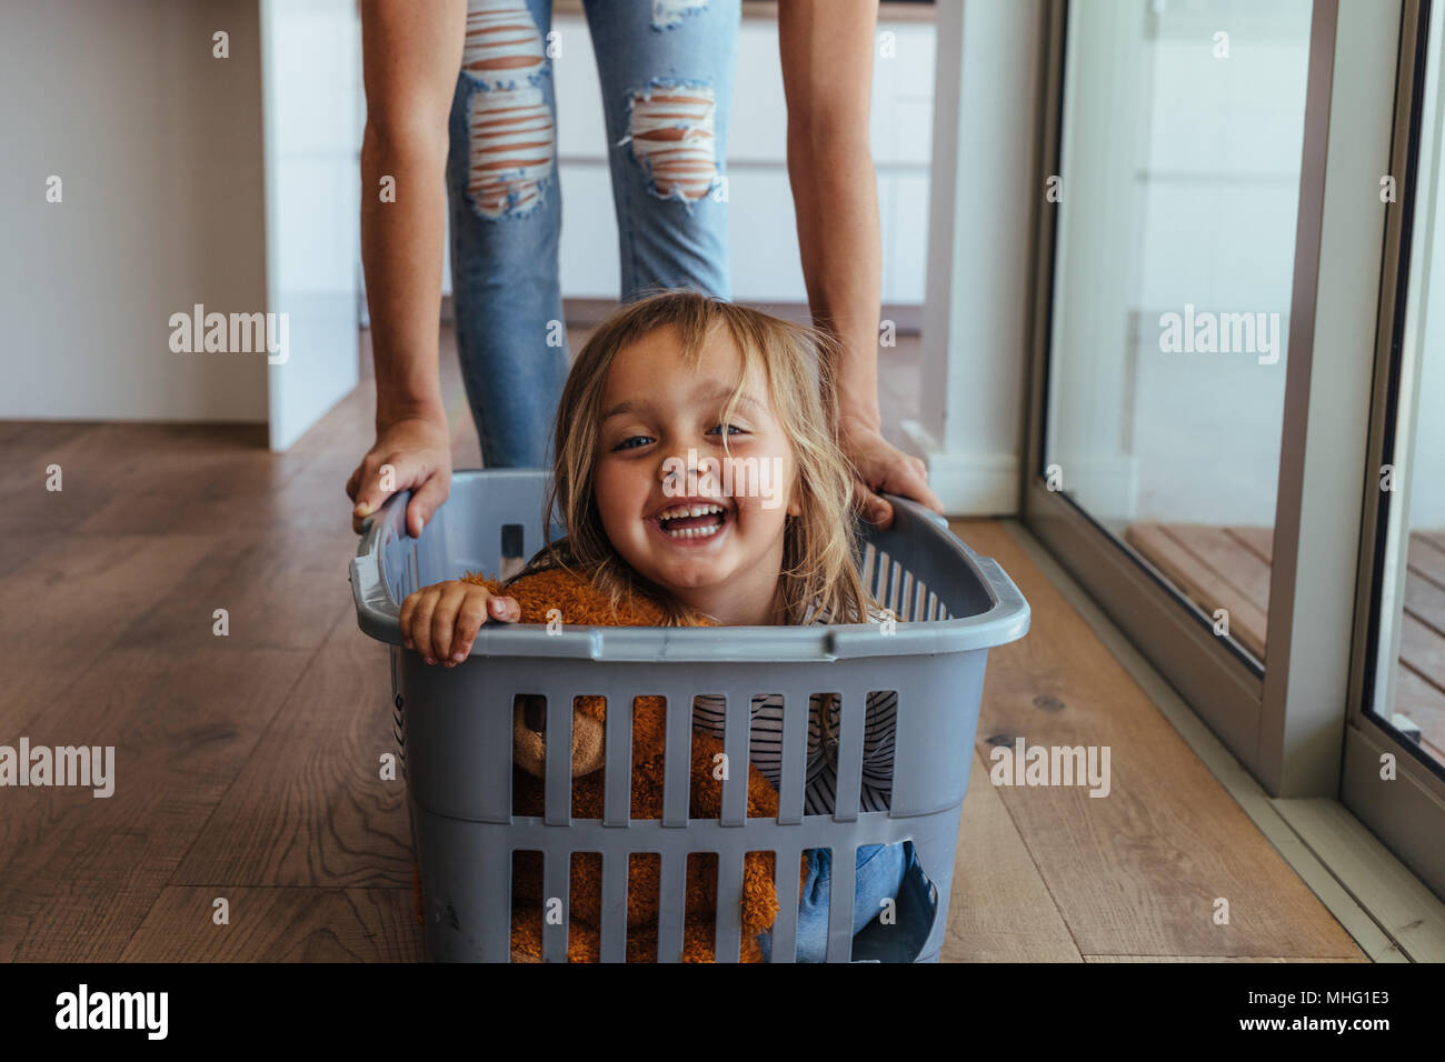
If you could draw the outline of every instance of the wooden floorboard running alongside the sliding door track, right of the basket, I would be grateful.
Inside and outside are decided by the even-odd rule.
[[[1111,792],[998,786],[1081,955],[1358,958],[1123,666],[997,522],[954,522],[1027,597],[1033,626],[988,655],[978,753],[1108,746]],[[971,785],[987,774],[975,773]],[[1230,903],[1228,925],[1214,920]],[[955,903],[967,897],[955,897]]]

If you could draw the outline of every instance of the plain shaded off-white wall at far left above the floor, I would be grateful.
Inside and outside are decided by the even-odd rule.
[[[264,420],[264,355],[168,324],[266,308],[256,3],[6,3],[0,71],[0,418]]]

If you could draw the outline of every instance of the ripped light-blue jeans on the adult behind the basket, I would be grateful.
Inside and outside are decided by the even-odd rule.
[[[722,162],[741,3],[584,7],[607,126],[620,299],[652,288],[728,298]],[[568,370],[553,58],[566,62],[582,45],[552,32],[552,0],[467,4],[448,123],[452,302],[467,402],[491,468],[551,465]]]

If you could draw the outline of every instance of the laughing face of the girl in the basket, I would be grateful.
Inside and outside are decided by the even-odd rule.
[[[722,423],[743,371],[725,329],[709,332],[695,368],[679,345],[659,328],[613,358],[597,444],[603,527],[683,604],[724,626],[775,623],[786,516],[802,511],[792,448],[756,373]]]

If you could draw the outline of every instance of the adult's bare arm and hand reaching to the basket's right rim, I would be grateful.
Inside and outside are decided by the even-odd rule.
[[[842,347],[837,366],[844,448],[870,488],[866,510],[890,523],[873,490],[942,511],[926,468],[889,445],[879,410],[881,250],[868,144],[877,0],[780,0],[777,39],[788,98],[788,175],[814,322]]]

